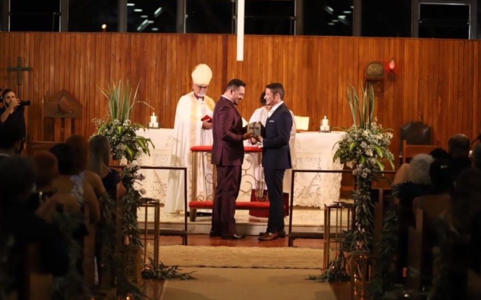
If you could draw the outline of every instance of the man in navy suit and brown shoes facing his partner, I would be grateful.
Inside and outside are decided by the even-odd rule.
[[[284,105],[284,88],[280,83],[266,86],[266,105],[272,107],[267,115],[265,136],[258,136],[262,143],[262,167],[269,193],[269,220],[266,232],[261,232],[260,241],[285,237],[282,180],[285,169],[291,169],[289,139],[293,118]]]

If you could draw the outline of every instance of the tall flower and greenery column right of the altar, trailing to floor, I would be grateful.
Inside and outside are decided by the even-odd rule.
[[[344,281],[348,279],[346,254],[351,251],[372,251],[373,210],[371,201],[372,181],[377,180],[384,170],[384,161],[390,163],[394,170],[394,156],[389,145],[393,134],[391,129],[383,129],[377,124],[374,113],[374,90],[371,85],[362,89],[362,101],[356,89],[348,88],[348,102],[353,117],[353,125],[343,128],[345,134],[339,144],[333,160],[354,167],[356,176],[355,190],[352,194],[355,206],[354,228],[344,232],[340,251],[332,262],[328,263],[323,274],[310,276],[319,281]],[[325,249],[327,251],[327,249]]]

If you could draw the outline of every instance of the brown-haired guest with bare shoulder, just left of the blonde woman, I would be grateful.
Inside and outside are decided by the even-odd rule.
[[[73,179],[79,181],[85,180],[93,188],[97,197],[106,195],[107,191],[100,176],[95,172],[87,170],[88,142],[85,137],[72,135],[67,138],[65,143],[72,148],[73,152]]]

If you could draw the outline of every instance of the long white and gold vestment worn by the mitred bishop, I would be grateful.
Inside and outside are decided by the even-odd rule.
[[[212,145],[212,129],[203,129],[201,119],[205,115],[212,117],[214,105],[212,98],[205,96],[202,101],[196,98],[194,92],[190,92],[180,97],[175,110],[171,166],[187,167],[187,203],[194,199],[212,199],[213,196],[213,165],[210,162],[210,156],[209,160],[206,156],[198,159],[196,169],[192,170],[190,147]],[[195,196],[192,195],[192,172],[197,172],[197,194]],[[164,212],[175,213],[183,210],[183,171],[170,170]]]

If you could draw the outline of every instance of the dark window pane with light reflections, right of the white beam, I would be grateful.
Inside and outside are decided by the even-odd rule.
[[[352,35],[353,0],[304,0],[305,35]]]

